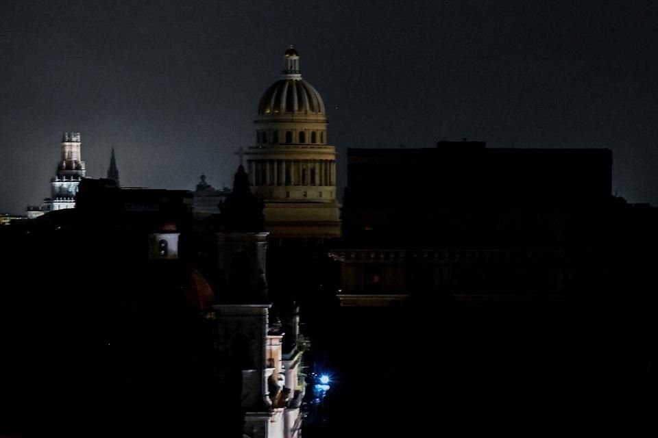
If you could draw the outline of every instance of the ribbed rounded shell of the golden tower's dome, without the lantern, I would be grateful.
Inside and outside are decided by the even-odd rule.
[[[319,92],[304,79],[276,81],[265,91],[258,105],[258,116],[265,117],[277,115],[324,117],[325,114],[324,102]]]

